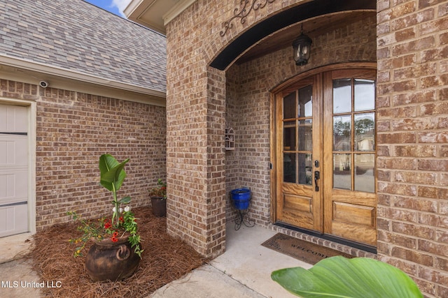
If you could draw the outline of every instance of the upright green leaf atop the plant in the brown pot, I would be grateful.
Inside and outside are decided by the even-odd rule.
[[[101,172],[100,184],[109,191],[118,191],[121,184],[125,181],[126,172],[123,170],[125,164],[129,161],[118,161],[111,154],[103,154],[99,157],[99,171]],[[115,189],[114,189],[115,188]]]

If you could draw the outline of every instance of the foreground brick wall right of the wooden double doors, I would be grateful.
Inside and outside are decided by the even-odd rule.
[[[377,1],[378,251],[448,297],[448,1]]]

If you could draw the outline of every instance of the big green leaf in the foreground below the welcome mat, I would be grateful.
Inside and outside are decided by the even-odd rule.
[[[327,258],[311,269],[280,269],[271,278],[303,298],[423,298],[419,288],[398,268],[369,258]]]

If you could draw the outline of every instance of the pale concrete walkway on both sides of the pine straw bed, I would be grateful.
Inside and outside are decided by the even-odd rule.
[[[255,226],[244,225],[235,231],[234,224],[227,227],[226,251],[223,255],[193,270],[183,278],[173,281],[153,293],[152,298],[244,298],[272,297],[293,298],[289,292],[272,281],[270,274],[276,269],[311,265],[272,251],[261,246],[264,241],[276,232]],[[25,242],[29,234],[18,235],[15,241],[8,237],[10,251],[20,248],[27,250],[29,242]],[[2,239],[0,239],[0,245]],[[3,239],[3,242],[5,240]],[[6,243],[3,243],[6,244]],[[8,251],[8,248],[6,248]],[[39,278],[32,271],[31,265],[23,258],[10,254],[0,264],[0,297],[41,297]],[[9,262],[6,262],[9,260]],[[149,298],[149,297],[147,297]]]

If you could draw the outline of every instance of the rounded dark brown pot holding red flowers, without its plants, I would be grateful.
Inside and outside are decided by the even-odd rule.
[[[85,269],[93,281],[118,281],[131,276],[139,267],[140,257],[134,253],[128,237],[117,242],[97,241],[85,258]]]

